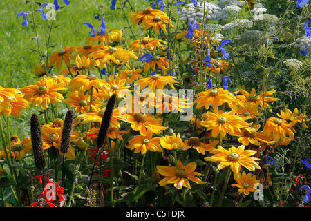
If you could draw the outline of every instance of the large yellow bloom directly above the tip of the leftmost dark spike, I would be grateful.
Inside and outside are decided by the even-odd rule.
[[[35,85],[20,88],[21,92],[25,94],[24,98],[32,102],[32,106],[41,106],[46,110],[50,103],[58,104],[64,99],[59,90],[66,90],[66,84],[57,83],[57,79],[42,77]]]

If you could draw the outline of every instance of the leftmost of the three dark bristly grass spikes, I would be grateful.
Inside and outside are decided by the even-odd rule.
[[[35,113],[32,114],[30,119],[30,133],[35,167],[38,170],[43,170],[46,166],[46,159],[44,157],[41,124],[39,117]]]

